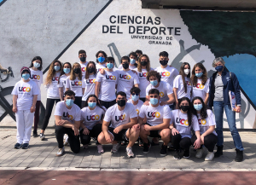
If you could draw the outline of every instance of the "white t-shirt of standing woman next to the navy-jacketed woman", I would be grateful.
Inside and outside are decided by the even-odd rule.
[[[193,86],[191,99],[193,99],[195,96],[200,96],[203,99],[203,101],[205,101],[207,93],[209,93],[209,82],[210,80],[207,79],[207,83],[203,85],[201,84],[201,79],[197,79],[196,86]]]

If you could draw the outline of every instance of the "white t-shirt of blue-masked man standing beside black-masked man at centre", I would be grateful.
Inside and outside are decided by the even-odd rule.
[[[115,96],[115,85],[118,83],[119,74],[117,72],[108,72],[105,70],[104,74],[97,73],[96,82],[100,82],[99,99],[101,101],[113,101]]]

